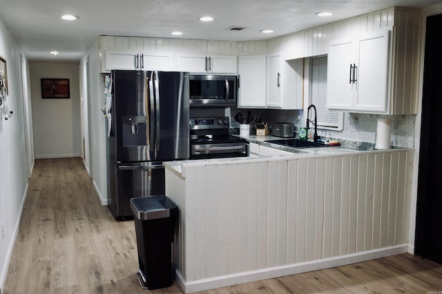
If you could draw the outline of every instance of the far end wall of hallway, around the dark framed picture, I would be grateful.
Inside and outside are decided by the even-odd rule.
[[[80,156],[78,63],[29,63],[35,158]],[[68,78],[70,98],[42,99],[40,78]]]

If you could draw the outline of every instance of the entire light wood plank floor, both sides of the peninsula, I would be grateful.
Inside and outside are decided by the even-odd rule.
[[[3,294],[182,293],[143,291],[136,247],[133,221],[101,206],[80,158],[36,160]],[[442,265],[401,254],[202,293],[442,294]]]

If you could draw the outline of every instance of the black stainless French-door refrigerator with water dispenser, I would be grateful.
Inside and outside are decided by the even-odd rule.
[[[109,209],[133,216],[129,200],[164,195],[162,162],[189,158],[189,73],[112,71],[107,141]]]

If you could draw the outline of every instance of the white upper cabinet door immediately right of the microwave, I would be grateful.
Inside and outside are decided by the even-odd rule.
[[[238,108],[265,107],[265,55],[238,57]]]

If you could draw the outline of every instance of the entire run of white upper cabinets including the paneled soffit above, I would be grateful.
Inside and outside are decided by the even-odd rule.
[[[416,114],[419,105],[421,25],[421,10],[394,7],[269,41],[100,36],[98,49],[102,53],[102,72],[113,68],[138,69],[141,64],[144,70],[197,74],[238,74],[239,71],[242,79],[239,107],[275,109],[302,109],[302,61],[305,57],[329,54],[330,109],[406,115]],[[349,40],[349,36],[358,38]],[[237,56],[252,54],[261,60],[252,57],[238,65]],[[259,54],[269,55],[262,61]],[[265,83],[262,83],[262,67],[265,67]],[[244,95],[247,87],[251,94]]]

